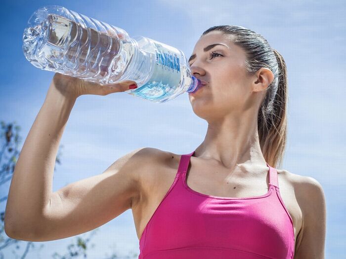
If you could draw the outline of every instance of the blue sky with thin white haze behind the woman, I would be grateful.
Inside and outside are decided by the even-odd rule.
[[[123,28],[130,37],[141,35],[172,45],[186,56],[200,35],[215,25],[240,25],[265,37],[288,68],[288,144],[283,169],[321,183],[327,200],[326,258],[346,254],[344,1],[2,1],[0,120],[15,120],[22,127],[21,146],[54,74],[31,65],[22,51],[27,21],[44,5],[64,6]],[[57,165],[53,191],[102,173],[135,148],[189,153],[204,140],[206,130],[206,121],[194,114],[187,94],[164,104],[126,93],[82,96],[61,140],[62,165]],[[8,188],[0,191],[5,195]],[[114,245],[121,255],[139,252],[131,210],[98,230],[90,258],[110,255]],[[41,257],[32,251],[27,258],[51,258],[52,251],[63,254],[71,239],[76,237],[43,242]],[[10,250],[5,253],[5,258],[11,258]]]

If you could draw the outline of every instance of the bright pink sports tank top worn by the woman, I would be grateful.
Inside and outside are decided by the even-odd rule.
[[[292,259],[293,221],[280,196],[277,171],[261,196],[206,195],[186,184],[190,154],[139,240],[138,259]]]

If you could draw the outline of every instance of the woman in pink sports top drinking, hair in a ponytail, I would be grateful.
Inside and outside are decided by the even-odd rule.
[[[282,56],[251,30],[215,26],[189,62],[205,83],[189,94],[193,111],[208,121],[199,147],[184,155],[139,148],[102,174],[52,193],[57,149],[77,98],[126,91],[133,83],[101,86],[55,74],[13,174],[6,234],[66,238],[131,208],[140,259],[324,258],[321,185],[275,169],[287,130]]]

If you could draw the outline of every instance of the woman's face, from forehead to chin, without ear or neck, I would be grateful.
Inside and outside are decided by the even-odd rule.
[[[241,115],[254,106],[251,89],[254,77],[247,74],[246,54],[227,37],[217,31],[202,36],[193,50],[196,56],[189,61],[191,74],[207,83],[189,94],[192,109],[201,118]],[[216,45],[204,51],[216,43],[225,46]]]

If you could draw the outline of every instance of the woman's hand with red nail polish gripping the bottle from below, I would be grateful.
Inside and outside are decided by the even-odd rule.
[[[55,87],[66,97],[78,98],[86,94],[108,95],[111,93],[124,92],[129,90],[131,84],[136,85],[136,82],[126,80],[115,84],[101,85],[70,75],[55,73],[51,87]]]

